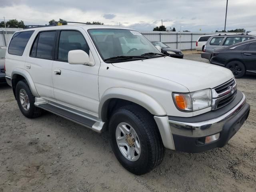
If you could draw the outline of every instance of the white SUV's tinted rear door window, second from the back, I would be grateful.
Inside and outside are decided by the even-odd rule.
[[[42,59],[53,59],[56,31],[40,32],[31,48],[30,56]]]

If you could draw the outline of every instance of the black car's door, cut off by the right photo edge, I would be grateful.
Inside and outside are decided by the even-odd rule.
[[[256,42],[249,43],[242,52],[247,71],[256,72]]]

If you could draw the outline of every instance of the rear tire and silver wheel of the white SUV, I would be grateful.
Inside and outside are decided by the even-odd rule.
[[[42,114],[42,109],[34,105],[35,97],[25,80],[17,83],[15,92],[18,106],[24,116],[27,118],[36,118]],[[24,106],[22,106],[22,103]]]

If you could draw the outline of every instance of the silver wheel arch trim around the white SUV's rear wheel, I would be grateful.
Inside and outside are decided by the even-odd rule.
[[[16,93],[15,93],[16,84],[20,80],[26,80],[32,94],[35,97],[39,97],[38,92],[36,91],[36,87],[34,85],[34,82],[31,78],[30,74],[26,70],[23,70],[21,68],[16,68],[12,71],[12,91],[14,93],[15,98],[16,98]]]

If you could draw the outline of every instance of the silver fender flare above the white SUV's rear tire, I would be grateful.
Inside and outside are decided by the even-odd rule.
[[[32,78],[31,78],[30,74],[29,74],[26,70],[24,70],[24,69],[22,69],[22,68],[15,68],[15,69],[12,71],[12,80],[16,78],[16,75],[23,76],[23,77],[26,79],[26,81],[28,82],[28,86],[29,86],[29,88],[30,88],[32,94],[33,94],[35,97],[40,97],[40,96],[38,95],[38,92],[37,92],[37,90],[36,90],[36,86],[35,86],[35,84],[34,84]]]

